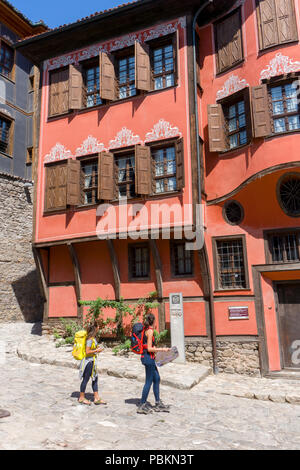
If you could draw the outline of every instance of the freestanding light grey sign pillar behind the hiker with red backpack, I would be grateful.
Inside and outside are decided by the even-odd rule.
[[[176,346],[179,356],[175,362],[185,362],[183,298],[181,293],[170,294],[171,344]]]

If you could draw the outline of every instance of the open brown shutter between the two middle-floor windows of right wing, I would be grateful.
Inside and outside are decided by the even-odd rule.
[[[251,95],[254,137],[268,136],[272,128],[267,85],[252,87]]]

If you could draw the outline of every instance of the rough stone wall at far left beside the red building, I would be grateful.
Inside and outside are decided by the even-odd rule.
[[[0,322],[41,321],[43,301],[31,250],[33,187],[0,173]]]

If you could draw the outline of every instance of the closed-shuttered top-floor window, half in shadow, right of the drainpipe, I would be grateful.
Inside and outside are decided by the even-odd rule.
[[[240,9],[215,24],[217,72],[228,70],[243,60]]]

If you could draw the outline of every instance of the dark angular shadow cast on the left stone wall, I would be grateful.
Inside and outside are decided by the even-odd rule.
[[[40,294],[36,270],[14,281],[12,288],[24,321],[28,323],[43,321],[44,301]]]

